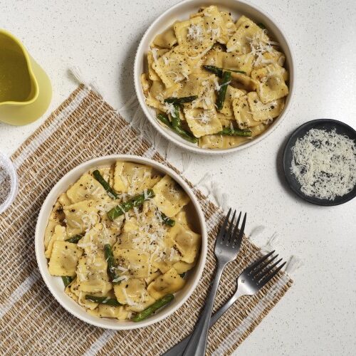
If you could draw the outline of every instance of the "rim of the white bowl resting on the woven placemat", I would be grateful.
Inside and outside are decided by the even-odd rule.
[[[48,219],[46,219],[45,222],[43,219],[43,216],[46,216],[48,214],[48,209],[51,209],[54,202],[58,198],[58,194],[61,193],[56,193],[56,190],[58,187],[63,184],[67,179],[70,179],[70,177],[75,176],[76,173],[80,172],[83,169],[90,169],[93,167],[100,167],[100,162],[103,162],[105,160],[125,160],[127,162],[137,162],[140,164],[146,164],[149,165],[150,167],[154,167],[157,169],[159,172],[162,172],[164,174],[169,174],[174,180],[176,180],[184,189],[184,191],[188,194],[189,198],[192,200],[192,204],[194,205],[194,209],[197,213],[197,217],[199,219],[199,227],[201,230],[201,249],[200,249],[200,255],[199,255],[199,262],[197,263],[196,267],[197,268],[197,275],[192,280],[191,286],[187,289],[185,294],[182,297],[182,300],[177,303],[173,308],[165,308],[163,313],[159,313],[157,315],[153,315],[151,318],[148,318],[147,320],[142,320],[141,322],[138,323],[133,323],[130,321],[127,321],[125,323],[123,320],[117,320],[117,325],[104,325],[103,323],[100,322],[102,318],[95,317],[93,315],[80,315],[77,313],[75,310],[73,310],[70,305],[67,305],[64,301],[61,295],[58,295],[56,289],[52,286],[53,281],[51,281],[51,278],[56,278],[54,276],[50,276],[48,273],[45,273],[45,271],[48,272],[48,262],[46,260],[46,263],[43,262],[43,256],[44,256],[44,248],[43,248],[43,234],[40,234],[41,229],[46,229],[46,226],[43,227],[43,224],[47,224]],[[102,164],[103,165],[103,164]],[[68,189],[68,187],[67,187]],[[64,191],[65,192],[65,191]],[[56,194],[55,194],[56,193]],[[43,204],[41,206],[41,210],[38,214],[38,218],[36,221],[36,230],[35,230],[35,253],[36,253],[36,261],[38,265],[38,269],[41,273],[41,276],[43,278],[43,281],[46,283],[47,288],[50,290],[51,294],[56,298],[59,304],[63,308],[65,308],[70,314],[74,315],[76,318],[82,320],[85,323],[88,323],[90,325],[94,325],[100,328],[105,328],[105,329],[111,329],[111,330],[133,330],[133,329],[138,329],[138,328],[144,328],[148,325],[152,325],[154,323],[157,323],[165,318],[167,318],[169,315],[172,315],[176,310],[178,310],[184,303],[187,302],[188,298],[192,295],[194,290],[197,288],[198,283],[201,279],[201,275],[203,273],[205,264],[206,264],[206,255],[207,255],[207,249],[208,249],[208,234],[206,231],[206,222],[204,218],[204,213],[201,210],[201,206],[199,204],[199,201],[197,197],[195,196],[194,192],[192,189],[189,187],[187,182],[182,179],[182,177],[179,176],[176,172],[174,172],[173,169],[164,166],[164,164],[153,161],[152,159],[148,159],[146,157],[140,157],[136,155],[107,155],[107,156],[102,156],[102,157],[97,157],[90,159],[88,161],[85,161],[75,168],[71,169],[69,172],[67,172],[61,179],[58,180],[58,182],[53,186],[51,191],[48,193],[46,199],[43,201]],[[166,310],[167,309],[167,310]],[[91,320],[93,318],[93,320]],[[104,318],[105,320],[106,318]],[[122,323],[120,323],[122,321]]]

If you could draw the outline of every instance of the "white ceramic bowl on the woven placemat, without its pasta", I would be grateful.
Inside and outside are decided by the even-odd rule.
[[[88,172],[89,169],[94,167],[103,167],[108,164],[114,163],[117,159],[127,161],[127,162],[137,162],[141,164],[147,164],[150,167],[154,167],[158,172],[162,172],[163,174],[169,174],[173,179],[175,179],[185,192],[189,195],[189,198],[193,204],[193,210],[195,211],[197,218],[197,227],[200,229],[201,233],[201,252],[199,255],[199,261],[197,265],[189,272],[189,276],[187,277],[187,283],[185,284],[182,290],[179,290],[176,293],[174,300],[172,303],[167,305],[167,307],[159,310],[158,313],[152,315],[147,320],[143,320],[138,323],[134,323],[130,320],[117,320],[110,318],[98,318],[93,315],[89,315],[85,312],[85,309],[80,307],[75,301],[70,298],[66,293],[64,293],[63,281],[60,277],[51,276],[48,272],[48,263],[46,257],[44,256],[44,246],[43,246],[43,236],[48,223],[48,218],[51,214],[51,210],[53,204],[55,204],[58,196],[63,192],[66,192],[70,184],[76,182],[79,177]],[[68,172],[51,190],[46,197],[46,200],[43,202],[41,207],[41,211],[38,215],[38,221],[36,225],[36,233],[35,233],[35,250],[36,250],[36,258],[38,263],[38,268],[41,272],[43,280],[45,281],[48,289],[51,291],[53,296],[58,300],[63,308],[66,308],[69,313],[72,313],[80,320],[85,321],[86,323],[99,326],[100,328],[107,328],[113,330],[130,330],[136,328],[143,328],[147,325],[151,325],[153,323],[157,323],[159,320],[167,318],[167,316],[171,315],[176,311],[193,293],[194,289],[197,287],[199,279],[201,277],[201,273],[204,269],[204,264],[206,260],[206,251],[207,251],[207,235],[206,235],[206,227],[204,221],[204,215],[200,209],[197,198],[192,193],[192,190],[188,187],[187,183],[179,177],[172,169],[165,167],[162,164],[159,164],[151,159],[147,159],[144,157],[137,157],[131,155],[112,155],[106,157],[100,157],[91,159],[88,162],[80,164],[75,169],[72,169]]]

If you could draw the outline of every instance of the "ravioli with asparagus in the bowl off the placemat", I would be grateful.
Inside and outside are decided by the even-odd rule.
[[[205,149],[232,148],[282,114],[289,93],[285,61],[263,23],[203,6],[157,34],[142,90],[171,135]],[[255,94],[258,105],[247,100]]]

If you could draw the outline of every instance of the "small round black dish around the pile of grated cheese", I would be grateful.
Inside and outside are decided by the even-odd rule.
[[[283,169],[284,169],[284,175],[286,177],[288,184],[290,185],[290,188],[293,190],[293,192],[295,192],[295,194],[298,194],[300,198],[309,201],[312,204],[318,204],[324,206],[344,204],[346,203],[346,201],[355,198],[356,185],[351,192],[343,195],[342,197],[336,197],[334,200],[308,197],[308,195],[305,195],[303,192],[300,191],[300,184],[298,180],[295,178],[294,174],[290,172],[290,165],[292,162],[291,148],[295,145],[295,141],[298,138],[303,137],[310,129],[320,129],[326,131],[331,131],[335,129],[337,134],[346,135],[351,140],[354,140],[354,142],[356,142],[356,131],[349,125],[346,125],[344,122],[337,121],[337,120],[330,120],[330,119],[319,119],[319,120],[312,120],[312,121],[305,122],[305,124],[298,127],[298,129],[295,130],[292,133],[292,135],[290,135],[286,143],[286,147],[284,147]]]

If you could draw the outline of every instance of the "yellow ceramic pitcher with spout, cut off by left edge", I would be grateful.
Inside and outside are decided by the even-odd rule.
[[[23,44],[0,28],[0,121],[26,125],[46,112],[51,81]]]

